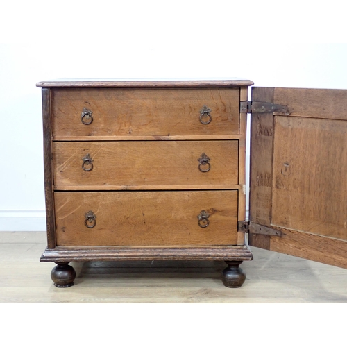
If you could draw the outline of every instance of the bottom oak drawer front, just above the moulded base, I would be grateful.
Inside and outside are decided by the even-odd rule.
[[[237,244],[237,190],[56,192],[54,197],[57,246]]]

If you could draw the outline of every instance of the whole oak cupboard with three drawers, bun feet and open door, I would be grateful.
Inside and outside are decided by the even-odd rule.
[[[223,260],[248,245],[347,268],[347,91],[238,79],[37,83],[47,248],[72,261]],[[246,118],[251,114],[246,221]]]

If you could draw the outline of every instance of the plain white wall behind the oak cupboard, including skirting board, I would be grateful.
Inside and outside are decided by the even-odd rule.
[[[338,43],[345,36],[341,11],[319,4],[312,10],[301,1],[300,11],[283,12],[260,2],[3,6],[0,230],[46,228],[38,81],[240,77],[257,86],[347,89],[347,44]]]

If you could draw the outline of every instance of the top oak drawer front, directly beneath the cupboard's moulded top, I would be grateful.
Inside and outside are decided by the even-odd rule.
[[[53,88],[51,109],[53,140],[58,141],[239,134],[237,87]],[[84,109],[92,116],[82,119]]]

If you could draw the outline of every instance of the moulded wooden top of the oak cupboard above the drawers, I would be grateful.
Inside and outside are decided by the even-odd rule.
[[[253,85],[242,78],[62,78],[37,83],[37,87],[240,87]]]

